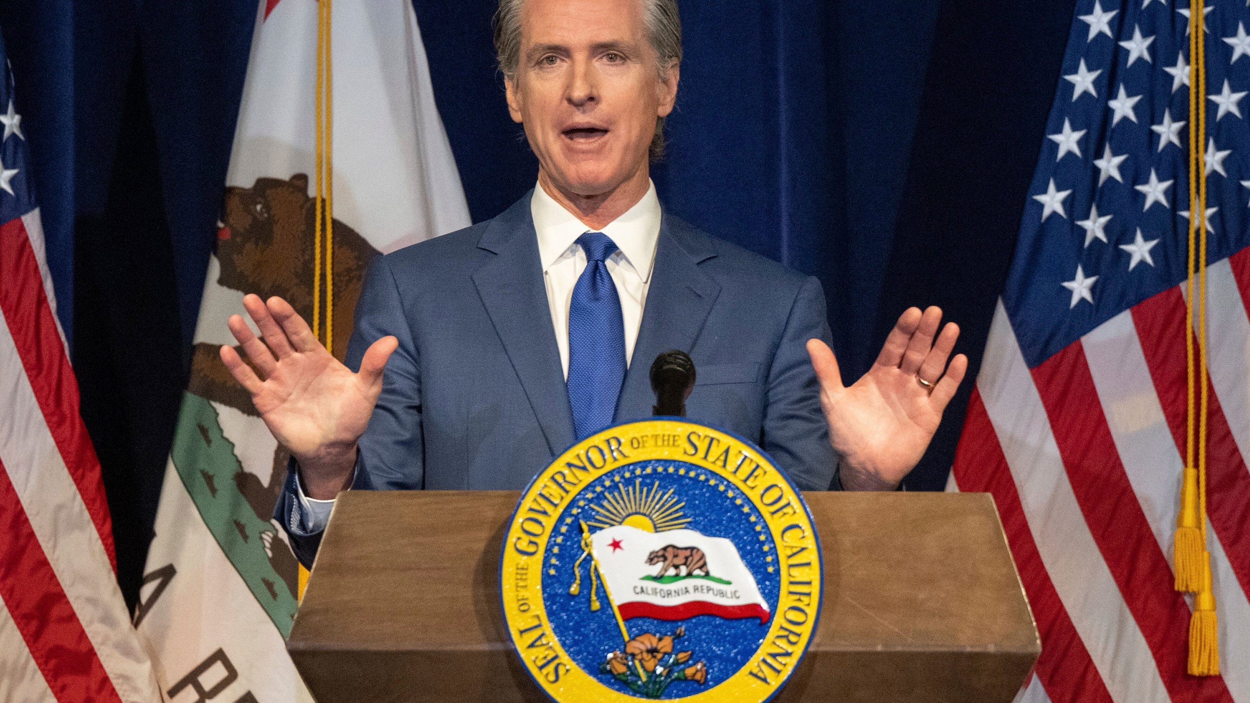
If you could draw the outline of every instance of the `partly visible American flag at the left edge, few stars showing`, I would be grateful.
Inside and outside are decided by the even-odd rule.
[[[79,415],[0,40],[0,700],[156,702]]]

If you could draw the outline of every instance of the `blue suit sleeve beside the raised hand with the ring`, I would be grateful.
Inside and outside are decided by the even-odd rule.
[[[838,489],[838,454],[820,409],[820,384],[808,357],[808,340],[832,343],[825,293],[809,276],[790,306],[768,375],[762,447],[800,490]]]

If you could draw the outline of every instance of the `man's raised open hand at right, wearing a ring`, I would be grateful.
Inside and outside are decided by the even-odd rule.
[[[924,313],[908,309],[872,368],[850,387],[842,385],[838,359],[829,346],[816,339],[808,341],[829,440],[841,458],[844,487],[895,488],[924,455],[968,372],[962,354],[946,368],[959,328],[949,323],[936,335],[940,323],[938,308]]]

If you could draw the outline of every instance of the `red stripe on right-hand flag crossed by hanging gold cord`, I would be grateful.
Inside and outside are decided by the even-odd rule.
[[[1242,251],[1245,254],[1245,251]],[[1236,256],[1241,256],[1238,254]],[[1242,265],[1248,261],[1242,258]],[[1234,266],[1236,271],[1236,266]],[[1240,281],[1239,281],[1240,283]],[[1242,293],[1245,295],[1245,293]],[[1132,308],[1141,352],[1155,384],[1155,394],[1181,460],[1185,458],[1185,298],[1168,289]],[[1206,444],[1206,514],[1241,590],[1250,594],[1250,472],[1238,450],[1215,389],[1210,399]],[[1245,422],[1245,418],[1241,419]],[[1180,477],[1178,477],[1178,480]]]

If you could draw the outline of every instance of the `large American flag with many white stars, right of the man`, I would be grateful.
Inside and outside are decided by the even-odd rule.
[[[1175,1],[1175,0],[1172,0]],[[1174,590],[1189,9],[1078,0],[951,488],[990,492],[1041,633],[1021,700],[1250,703],[1250,8],[1204,10],[1208,532],[1221,675]],[[1196,324],[1196,320],[1195,320]]]

